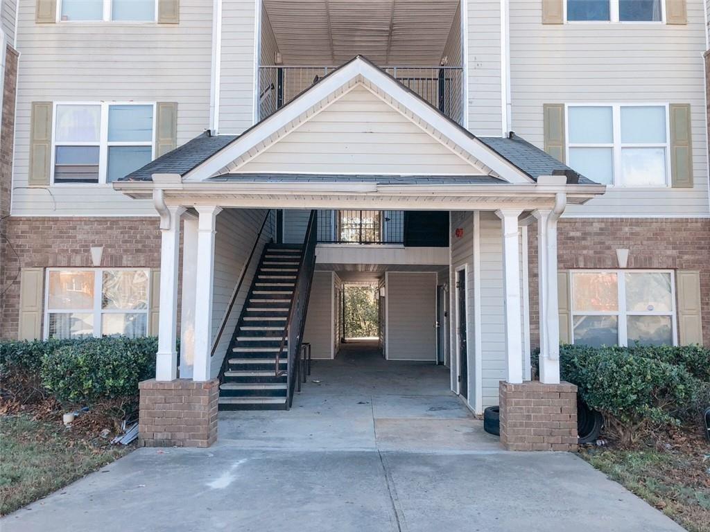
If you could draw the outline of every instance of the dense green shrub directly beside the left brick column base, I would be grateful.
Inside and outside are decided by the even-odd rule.
[[[42,383],[64,404],[135,401],[138,382],[155,376],[157,338],[90,338],[42,358]]]

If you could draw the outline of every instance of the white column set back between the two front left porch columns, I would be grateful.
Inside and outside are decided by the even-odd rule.
[[[195,364],[195,299],[197,297],[197,217],[182,223],[182,297],[180,307],[180,378],[192,379]]]

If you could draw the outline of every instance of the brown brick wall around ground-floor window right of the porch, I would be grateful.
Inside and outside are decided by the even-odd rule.
[[[540,345],[537,294],[537,224],[530,226],[530,340]],[[699,270],[703,343],[710,346],[710,219],[562,218],[557,230],[560,270],[618,268],[617,249],[628,249],[628,268]]]

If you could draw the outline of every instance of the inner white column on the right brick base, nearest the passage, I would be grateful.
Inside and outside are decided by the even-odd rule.
[[[503,220],[503,296],[506,307],[506,358],[508,382],[523,382],[523,323],[520,308],[520,242],[518,216],[520,209],[496,211]]]

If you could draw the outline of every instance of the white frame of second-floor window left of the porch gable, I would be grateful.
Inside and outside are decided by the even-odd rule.
[[[97,187],[109,186],[107,181],[109,173],[109,146],[151,146],[151,160],[155,159],[155,113],[157,106],[155,101],[55,101],[52,109],[52,154],[50,184],[53,187]],[[101,123],[99,123],[99,142],[57,142],[57,106],[62,105],[84,105],[101,106]],[[153,107],[153,135],[151,140],[131,141],[131,142],[110,142],[109,143],[109,107],[111,106],[152,106]],[[96,183],[55,183],[55,157],[57,156],[57,146],[99,146],[99,180]]]

